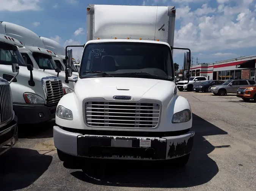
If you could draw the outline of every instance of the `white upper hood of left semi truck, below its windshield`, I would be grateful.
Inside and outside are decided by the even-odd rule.
[[[16,73],[13,73],[11,70],[11,65],[1,65],[1,69],[5,71],[6,73],[10,75],[15,75]],[[47,74],[46,72],[42,72],[38,69],[33,69],[33,79],[36,81],[41,82],[41,79],[46,76],[52,76],[50,74]],[[19,75],[18,77],[25,77],[27,79],[30,79],[30,71],[28,71],[26,66],[19,66]]]

